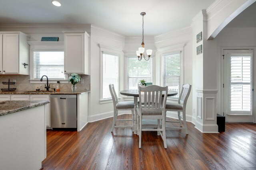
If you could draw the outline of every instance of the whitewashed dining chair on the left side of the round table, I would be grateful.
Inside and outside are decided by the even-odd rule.
[[[114,89],[114,84],[109,84],[110,94],[113,100],[114,105],[114,117],[111,132],[113,132],[114,127],[132,127],[132,131],[134,131],[134,102],[118,102],[116,91]],[[119,110],[130,110],[132,111],[132,119],[117,119]],[[132,121],[132,125],[116,125],[117,121]]]

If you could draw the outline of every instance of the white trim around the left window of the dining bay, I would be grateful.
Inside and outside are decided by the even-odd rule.
[[[102,99],[103,94],[103,53],[110,54],[110,55],[117,55],[118,56],[118,89],[120,90],[120,62],[121,58],[124,58],[124,53],[122,49],[118,49],[116,47],[110,47],[108,45],[99,44],[100,47],[100,104],[111,103],[112,98],[110,99]],[[119,99],[119,92],[116,93]]]

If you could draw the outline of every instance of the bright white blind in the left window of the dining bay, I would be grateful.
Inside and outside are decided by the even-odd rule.
[[[111,98],[109,91],[109,84],[114,84],[116,94],[118,95],[119,86],[118,86],[118,56],[110,55],[103,53],[103,82],[102,82],[102,99]]]

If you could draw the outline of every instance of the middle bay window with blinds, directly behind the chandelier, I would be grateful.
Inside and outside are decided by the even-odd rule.
[[[152,58],[148,61],[142,59],[138,61],[138,57],[127,58],[127,89],[138,89],[140,80],[152,82]]]

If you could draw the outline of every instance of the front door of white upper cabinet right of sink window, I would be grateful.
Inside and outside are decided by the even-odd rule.
[[[64,33],[65,74],[85,74],[84,33]]]

